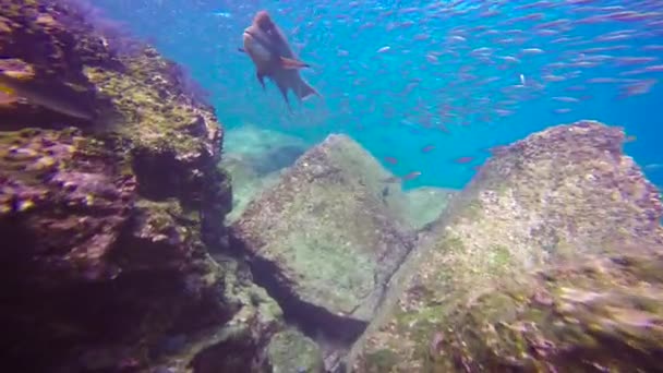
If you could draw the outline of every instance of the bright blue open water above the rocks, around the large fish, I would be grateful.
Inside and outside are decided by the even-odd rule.
[[[422,172],[405,188],[462,188],[475,172],[473,166],[490,156],[487,148],[581,119],[624,127],[637,139],[626,144],[627,154],[641,166],[649,165],[649,178],[663,184],[663,166],[655,166],[663,164],[663,116],[658,112],[663,105],[663,84],[658,82],[663,72],[619,75],[663,63],[663,48],[656,47],[663,45],[661,1],[551,0],[529,9],[522,5],[534,1],[94,3],[104,9],[105,16],[125,22],[123,27],[183,64],[209,91],[227,129],[253,123],[311,144],[328,133],[345,132],[376,158],[395,157],[397,165],[385,166],[396,175]],[[302,75],[324,96],[301,107],[291,98],[293,115],[273,84],[267,83],[266,93],[262,91],[251,61],[237,50],[243,28],[262,9],[272,13],[299,57],[313,65]],[[648,14],[583,24],[591,16],[624,11]],[[490,16],[491,12],[499,14]],[[529,20],[519,20],[527,15]],[[537,28],[560,19],[568,21]],[[612,32],[619,37],[596,39]],[[385,46],[390,49],[377,52]],[[484,47],[493,50],[481,57],[475,49]],[[588,51],[596,47],[615,49]],[[522,48],[539,48],[541,53],[522,56]],[[505,62],[507,56],[519,62]],[[619,57],[658,60],[624,65],[617,63]],[[520,74],[526,84],[522,85]],[[588,82],[595,77],[631,81]],[[647,80],[658,84],[647,94],[622,97],[625,84]],[[572,88],[577,86],[583,89]],[[553,97],[578,101],[560,103]],[[554,111],[565,108],[572,110]],[[421,152],[426,145],[435,149]],[[458,164],[459,157],[474,160]]]

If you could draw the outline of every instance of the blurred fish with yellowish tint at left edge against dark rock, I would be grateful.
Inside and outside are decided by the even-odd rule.
[[[92,121],[95,112],[91,107],[85,106],[76,97],[73,89],[58,86],[55,91],[40,86],[32,80],[22,80],[0,73],[0,93],[7,99],[22,98],[29,104],[37,105],[49,110],[63,113],[65,116]],[[63,89],[64,88],[64,89]]]

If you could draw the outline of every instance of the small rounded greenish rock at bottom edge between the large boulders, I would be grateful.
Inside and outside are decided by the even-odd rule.
[[[286,329],[272,337],[267,346],[273,373],[322,373],[325,370],[317,345],[296,329]]]

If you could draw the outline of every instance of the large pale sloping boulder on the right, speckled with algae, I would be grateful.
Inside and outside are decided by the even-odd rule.
[[[582,121],[501,149],[395,275],[354,370],[653,369],[663,208],[623,141]]]

